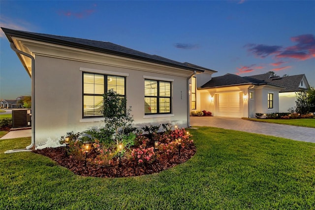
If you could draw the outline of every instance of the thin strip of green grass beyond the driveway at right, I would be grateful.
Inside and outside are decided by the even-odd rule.
[[[257,119],[257,118],[242,118],[246,120],[258,121],[258,122],[268,122],[277,123],[284,125],[295,125],[301,127],[315,128],[315,118],[304,118],[304,119]]]

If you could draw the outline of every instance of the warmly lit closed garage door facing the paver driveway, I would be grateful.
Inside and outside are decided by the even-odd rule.
[[[241,93],[221,93],[217,100],[217,115],[222,117],[241,117]]]

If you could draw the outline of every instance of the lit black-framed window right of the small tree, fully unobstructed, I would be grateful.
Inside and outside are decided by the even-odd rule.
[[[144,80],[144,113],[171,113],[171,82]]]

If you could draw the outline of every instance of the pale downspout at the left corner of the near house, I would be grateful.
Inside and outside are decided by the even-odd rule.
[[[13,51],[16,53],[25,55],[29,58],[32,59],[32,74],[31,74],[31,79],[32,79],[32,141],[31,144],[26,147],[27,150],[33,149],[35,147],[35,59],[32,55],[27,54],[21,50],[18,50],[13,42],[10,42],[10,47]],[[21,150],[23,151],[23,150]]]

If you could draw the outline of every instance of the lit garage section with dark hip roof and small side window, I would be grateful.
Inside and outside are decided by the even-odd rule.
[[[284,90],[281,85],[230,73],[198,84],[198,77],[202,78],[203,74],[196,75],[195,109],[223,117],[255,117],[255,113],[279,112],[279,91]]]

